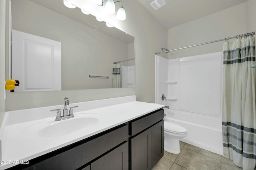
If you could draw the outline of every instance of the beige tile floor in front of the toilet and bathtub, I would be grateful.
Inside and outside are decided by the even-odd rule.
[[[152,170],[242,170],[230,159],[180,141],[180,154],[164,151]]]

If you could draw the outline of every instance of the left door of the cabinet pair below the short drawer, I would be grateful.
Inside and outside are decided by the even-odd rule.
[[[131,145],[132,170],[151,170],[151,129],[132,138]]]

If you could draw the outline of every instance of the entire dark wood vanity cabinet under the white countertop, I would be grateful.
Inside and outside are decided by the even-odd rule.
[[[11,169],[151,170],[163,156],[163,109]]]

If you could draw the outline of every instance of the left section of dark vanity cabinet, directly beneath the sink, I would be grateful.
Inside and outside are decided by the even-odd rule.
[[[108,131],[97,134],[93,137],[79,141],[62,149],[56,150],[38,157],[38,160],[31,160],[31,163],[38,162],[25,170],[76,170],[87,169],[90,165],[91,170],[98,167],[108,167],[108,160],[111,158],[110,167],[112,170],[118,169],[120,164],[124,164],[124,170],[128,170],[128,123],[114,127]],[[60,152],[60,153],[58,153]],[[119,159],[120,155],[124,155]],[[44,157],[50,158],[44,158]],[[117,159],[118,158],[118,159]],[[118,162],[120,161],[120,162]],[[97,163],[94,163],[97,162]],[[105,169],[105,168],[104,168]],[[106,169],[107,170],[107,169]]]

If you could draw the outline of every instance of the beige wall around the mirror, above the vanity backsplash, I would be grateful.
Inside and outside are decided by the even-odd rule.
[[[6,111],[59,105],[63,104],[64,97],[74,103],[136,95],[138,101],[154,102],[154,53],[167,46],[167,29],[138,0],[124,1],[123,5],[126,20],[122,22],[127,25],[127,32],[135,37],[135,88],[8,93]]]

